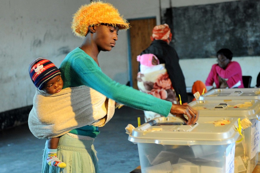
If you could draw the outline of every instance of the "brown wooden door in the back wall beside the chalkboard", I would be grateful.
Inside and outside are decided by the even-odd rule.
[[[131,26],[129,29],[130,86],[138,89],[136,77],[139,71],[139,62],[136,60],[136,57],[151,44],[150,37],[154,26],[156,26],[156,18],[128,20],[128,22]]]

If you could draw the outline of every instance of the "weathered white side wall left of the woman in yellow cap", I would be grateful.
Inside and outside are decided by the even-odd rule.
[[[86,0],[1,0],[0,112],[32,104],[29,63],[46,57],[57,66],[82,40],[71,32],[72,15]]]

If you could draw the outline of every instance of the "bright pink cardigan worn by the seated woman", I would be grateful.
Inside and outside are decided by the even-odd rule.
[[[212,86],[215,82],[216,88],[219,88],[218,75],[221,78],[228,79],[227,85],[229,88],[239,82],[239,80],[241,82],[241,85],[238,88],[244,88],[242,80],[242,70],[238,62],[230,61],[225,70],[218,66],[218,64],[214,64],[205,82],[206,86]]]

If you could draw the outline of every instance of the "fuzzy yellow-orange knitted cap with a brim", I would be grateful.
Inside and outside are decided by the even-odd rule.
[[[119,29],[128,29],[129,23],[120,16],[118,10],[109,3],[91,2],[82,5],[73,15],[71,29],[78,37],[84,38],[88,26],[99,26],[101,23],[119,26]]]

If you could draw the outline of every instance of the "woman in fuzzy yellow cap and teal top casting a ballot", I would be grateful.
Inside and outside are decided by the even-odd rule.
[[[64,82],[63,88],[86,85],[90,90],[89,100],[104,103],[103,110],[108,111],[111,99],[127,106],[142,110],[151,110],[167,116],[175,114],[187,124],[195,124],[198,113],[189,106],[174,105],[171,102],[141,93],[125,85],[121,85],[106,76],[99,67],[100,51],[111,51],[116,45],[119,29],[128,29],[117,9],[109,3],[91,2],[83,5],[74,14],[72,29],[76,36],[83,37],[82,45],[71,51],[62,61],[60,71]],[[96,95],[91,93],[95,92]],[[97,92],[99,95],[97,96]],[[106,99],[108,98],[108,99]],[[90,107],[90,110],[95,107]],[[185,119],[183,114],[188,116]],[[97,137],[98,127],[87,125],[71,130],[60,137],[58,157],[67,164],[66,168],[50,167],[43,162],[43,172],[100,172],[93,141]],[[46,152],[46,148],[45,148]],[[44,153],[43,160],[46,160]]]

